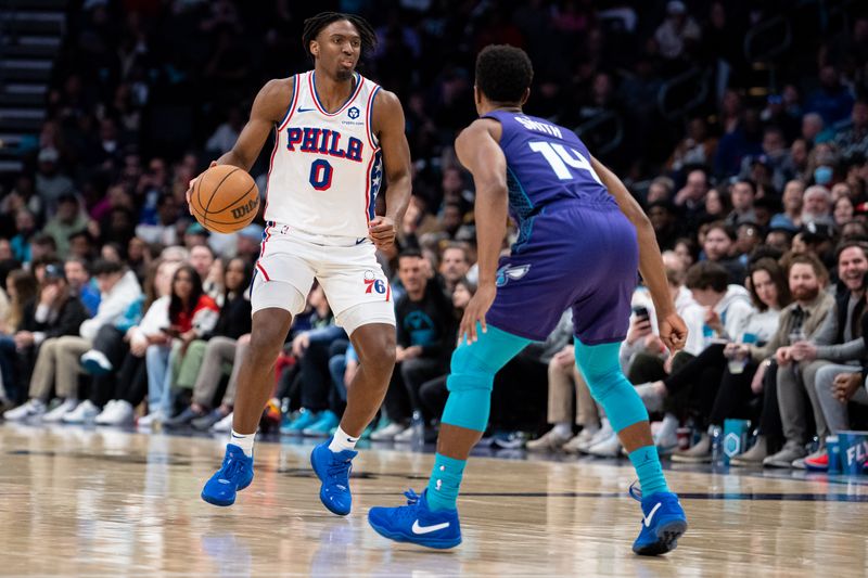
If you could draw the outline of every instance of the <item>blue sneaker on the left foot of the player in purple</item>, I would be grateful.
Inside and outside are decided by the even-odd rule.
[[[458,510],[429,510],[426,491],[422,496],[413,490],[406,491],[407,505],[371,508],[368,524],[380,536],[396,542],[411,542],[439,550],[455,548],[461,543]]]

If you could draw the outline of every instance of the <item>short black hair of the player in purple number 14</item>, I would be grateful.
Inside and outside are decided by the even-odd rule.
[[[509,44],[489,44],[476,56],[476,87],[490,101],[519,103],[534,79],[527,53]]]

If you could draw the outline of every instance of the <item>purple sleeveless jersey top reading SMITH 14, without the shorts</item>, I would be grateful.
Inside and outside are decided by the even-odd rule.
[[[617,207],[575,132],[523,113],[497,111],[484,118],[494,118],[503,128],[500,149],[507,157],[509,208],[519,226],[513,251],[529,240],[534,217],[548,205],[573,202]]]

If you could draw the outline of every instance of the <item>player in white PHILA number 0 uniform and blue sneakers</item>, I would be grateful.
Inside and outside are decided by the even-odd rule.
[[[303,43],[314,69],[266,84],[238,142],[215,163],[250,170],[276,129],[267,227],[251,284],[251,345],[222,467],[202,490],[209,503],[232,504],[253,480],[253,440],[273,387],[275,362],[316,279],[359,355],[341,424],[310,455],[322,503],[335,514],[349,513],[354,447],[380,408],[395,365],[392,291],[374,254],[394,243],[410,197],[401,105],[356,72],[361,51],[374,42],[359,16],[326,12],[305,21]],[[386,214],[375,216],[383,177]]]

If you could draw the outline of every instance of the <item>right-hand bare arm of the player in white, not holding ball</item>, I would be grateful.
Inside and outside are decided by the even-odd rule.
[[[405,132],[404,110],[398,98],[381,89],[373,103],[373,129],[383,151],[386,177],[386,214],[374,217],[368,233],[378,248],[386,248],[395,242],[398,224],[410,203],[412,177],[410,170],[410,145]]]

